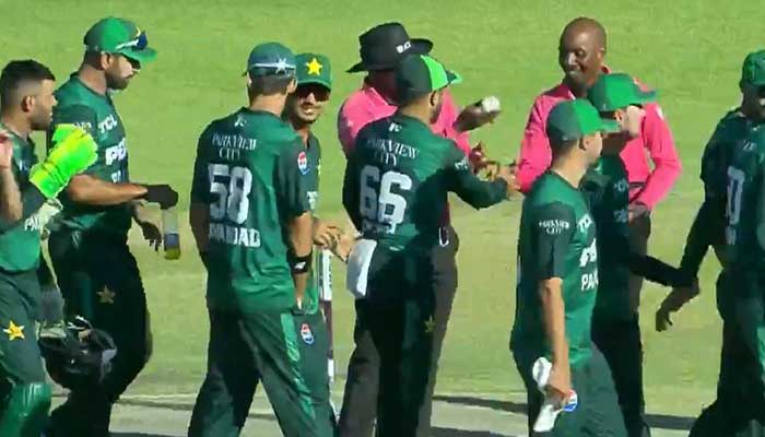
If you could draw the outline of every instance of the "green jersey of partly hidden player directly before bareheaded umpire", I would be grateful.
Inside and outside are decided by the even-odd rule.
[[[589,197],[598,238],[598,298],[595,316],[631,319],[629,185],[619,155],[603,154],[585,175],[581,188]]]

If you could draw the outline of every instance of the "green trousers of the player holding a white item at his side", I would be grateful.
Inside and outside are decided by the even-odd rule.
[[[514,353],[518,373],[523,379],[528,401],[529,436],[550,437],[626,437],[627,430],[619,408],[611,369],[603,355],[592,346],[590,359],[572,369],[572,388],[579,404],[570,413],[561,413],[550,433],[534,433],[533,424],[544,398],[531,376],[537,357]]]

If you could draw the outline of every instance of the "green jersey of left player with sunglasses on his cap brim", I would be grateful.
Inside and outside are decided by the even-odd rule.
[[[97,161],[84,174],[114,184],[129,181],[125,127],[111,98],[89,88],[76,74],[56,91],[56,98],[58,105],[54,109],[51,131],[55,125],[73,123],[93,135],[98,146]],[[127,203],[86,205],[72,201],[66,191],[60,199],[63,211],[57,223],[64,229],[93,229],[118,235],[126,235],[130,229],[132,213]]]

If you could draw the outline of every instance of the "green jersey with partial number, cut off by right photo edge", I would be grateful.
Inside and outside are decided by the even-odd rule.
[[[728,162],[726,244],[737,272],[765,269],[765,125],[755,125]]]

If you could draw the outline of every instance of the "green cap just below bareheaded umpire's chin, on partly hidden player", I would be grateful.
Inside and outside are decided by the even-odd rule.
[[[629,74],[601,74],[587,91],[587,99],[599,113],[656,102],[656,91],[643,91]]]

